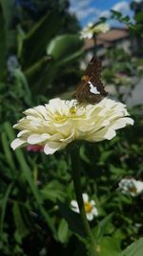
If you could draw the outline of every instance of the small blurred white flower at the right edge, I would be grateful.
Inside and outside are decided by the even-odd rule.
[[[143,192],[143,182],[134,178],[123,178],[118,185],[123,194],[132,197],[136,197]]]

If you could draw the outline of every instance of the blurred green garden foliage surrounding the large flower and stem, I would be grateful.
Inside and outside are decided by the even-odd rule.
[[[10,149],[15,137],[11,126],[22,111],[72,90],[85,54],[68,1],[28,2],[0,0],[0,255],[86,256],[83,226],[70,206],[74,192],[69,151],[47,156]],[[116,49],[108,58],[103,79],[114,84],[114,97],[126,102],[133,78],[141,79],[142,60],[131,61]],[[126,97],[121,91],[125,85]],[[111,142],[83,143],[80,149],[83,192],[96,201],[99,212],[91,226],[101,256],[142,255],[142,240],[125,247],[143,235],[143,197],[132,198],[118,189],[123,177],[143,177],[142,106],[131,107],[130,113],[133,128],[120,131]]]

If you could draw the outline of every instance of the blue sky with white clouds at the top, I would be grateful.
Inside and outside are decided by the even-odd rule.
[[[70,2],[70,12],[76,14],[82,26],[97,21],[100,16],[108,16],[111,9],[122,12],[123,15],[133,15],[130,10],[132,0],[70,0]]]

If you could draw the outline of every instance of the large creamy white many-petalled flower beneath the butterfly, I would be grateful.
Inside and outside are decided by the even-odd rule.
[[[13,126],[20,130],[11,143],[13,150],[41,145],[46,154],[51,154],[74,140],[111,140],[116,129],[133,125],[133,119],[126,117],[129,115],[126,105],[107,98],[96,105],[53,99],[48,105],[35,106],[24,114],[26,117]]]

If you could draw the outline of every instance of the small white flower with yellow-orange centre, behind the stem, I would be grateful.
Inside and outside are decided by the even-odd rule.
[[[84,193],[82,194],[83,201],[84,201],[84,207],[87,214],[87,219],[89,221],[93,220],[94,216],[98,215],[97,208],[95,207],[95,201],[89,200],[88,194]],[[76,213],[79,213],[79,208],[76,200],[71,201],[72,210]]]

